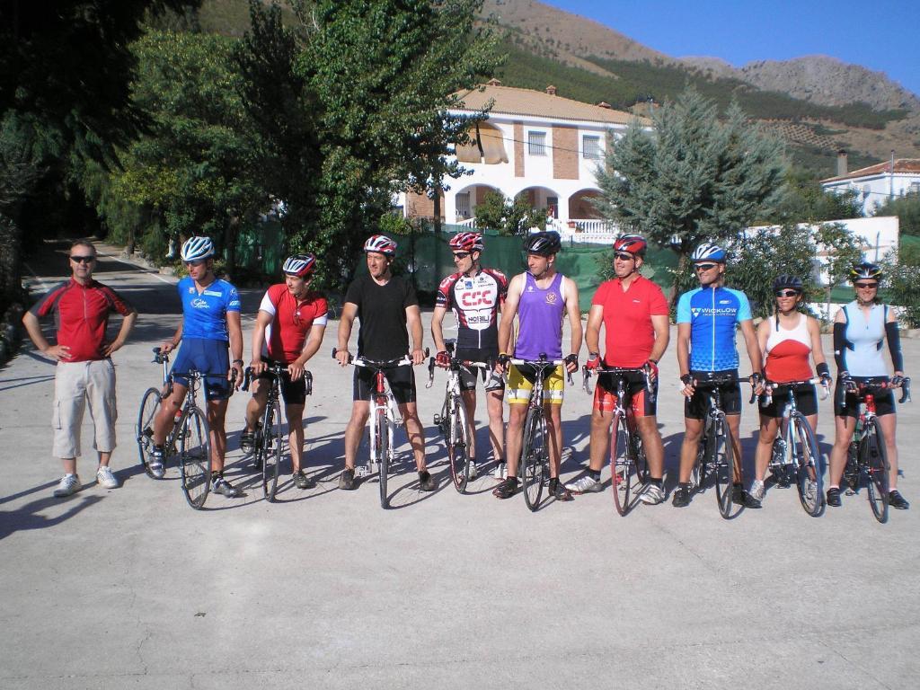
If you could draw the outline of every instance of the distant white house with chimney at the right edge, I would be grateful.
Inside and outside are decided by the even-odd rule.
[[[896,158],[846,172],[845,155],[838,159],[837,176],[822,179],[824,190],[857,192],[865,215],[888,199],[920,194],[920,158]],[[843,168],[843,169],[841,169]]]

